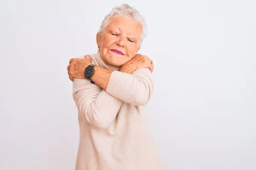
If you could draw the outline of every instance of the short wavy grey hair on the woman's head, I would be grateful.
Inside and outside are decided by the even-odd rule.
[[[104,20],[102,21],[102,24],[99,28],[99,34],[103,33],[106,26],[108,26],[108,23],[110,22],[110,20],[116,16],[122,16],[127,19],[133,19],[133,20],[136,20],[138,23],[140,23],[142,32],[140,35],[139,47],[141,47],[141,43],[143,39],[147,36],[147,31],[148,31],[147,24],[145,22],[144,16],[140,14],[140,12],[137,11],[136,8],[131,7],[128,4],[122,4],[121,6],[116,6],[112,8],[112,10],[105,16]]]

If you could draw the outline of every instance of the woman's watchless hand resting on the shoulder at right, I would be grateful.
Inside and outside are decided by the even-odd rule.
[[[148,56],[136,54],[130,61],[122,65],[119,71],[131,74],[140,68],[148,68],[152,73],[154,70],[154,63]]]

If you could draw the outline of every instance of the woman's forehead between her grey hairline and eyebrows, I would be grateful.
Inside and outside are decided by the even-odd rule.
[[[113,31],[121,31],[125,34],[134,34],[140,35],[141,34],[141,26],[135,20],[127,19],[125,17],[113,17],[106,29],[113,29]]]

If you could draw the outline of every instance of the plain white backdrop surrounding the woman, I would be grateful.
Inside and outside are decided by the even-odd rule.
[[[122,3],[146,18],[148,119],[164,170],[256,169],[256,3],[1,0],[0,169],[73,170],[79,142],[69,59],[97,50]]]

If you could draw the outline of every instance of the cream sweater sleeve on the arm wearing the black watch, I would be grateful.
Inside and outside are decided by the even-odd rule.
[[[132,74],[113,71],[106,92],[131,105],[145,105],[153,92],[154,80],[148,68]]]

